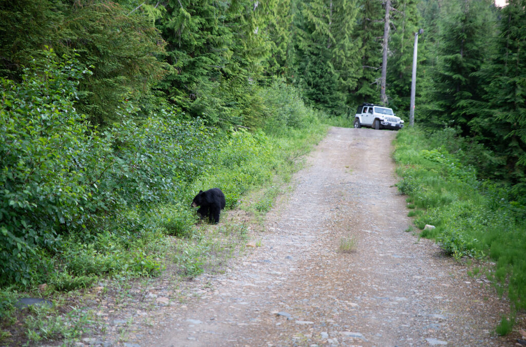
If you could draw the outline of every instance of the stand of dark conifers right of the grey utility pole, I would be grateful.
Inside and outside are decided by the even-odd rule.
[[[503,8],[491,1],[420,4],[425,57],[416,119],[433,128],[459,127],[488,151],[480,175],[513,185],[524,203],[525,2]],[[418,88],[417,88],[418,89]]]

